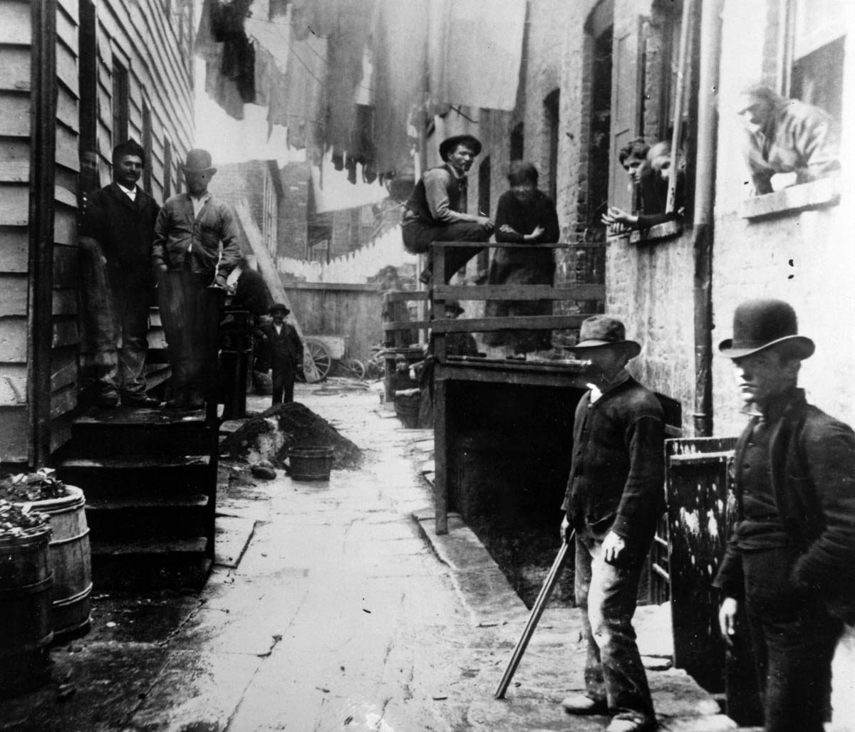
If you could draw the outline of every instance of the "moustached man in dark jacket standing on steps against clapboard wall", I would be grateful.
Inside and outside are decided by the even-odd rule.
[[[85,313],[99,344],[98,407],[156,407],[145,394],[146,334],[154,290],[151,243],[160,207],[137,185],[145,151],[128,140],[113,149],[113,182],[86,201],[80,220],[80,245],[94,248],[103,261],[106,313]],[[99,265],[98,265],[99,266]],[[96,282],[85,281],[87,293]]]

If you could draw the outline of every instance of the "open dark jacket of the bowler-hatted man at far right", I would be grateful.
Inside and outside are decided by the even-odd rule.
[[[737,510],[740,465],[758,418],[736,443]],[[796,389],[783,416],[771,427],[769,475],[778,512],[792,542],[803,548],[793,566],[797,588],[817,591],[832,609],[855,608],[855,433],[805,401]],[[740,514],[737,514],[739,520]],[[713,584],[740,598],[742,559],[736,532],[728,542]]]

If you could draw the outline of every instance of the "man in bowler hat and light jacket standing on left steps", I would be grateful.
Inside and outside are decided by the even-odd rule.
[[[211,196],[216,173],[207,150],[192,149],[181,166],[186,193],[163,204],[152,264],[172,366],[167,407],[201,409],[216,375],[218,325],[226,279],[240,258],[232,209]]]

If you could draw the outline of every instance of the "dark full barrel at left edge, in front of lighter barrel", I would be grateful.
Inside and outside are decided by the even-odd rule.
[[[0,536],[0,696],[37,688],[50,674],[50,526]]]

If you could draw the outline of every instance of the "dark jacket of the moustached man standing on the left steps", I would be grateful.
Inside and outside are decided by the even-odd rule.
[[[154,284],[151,246],[159,211],[154,198],[139,187],[133,201],[115,183],[94,191],[87,199],[80,218],[80,236],[92,237],[101,245],[111,283]]]

